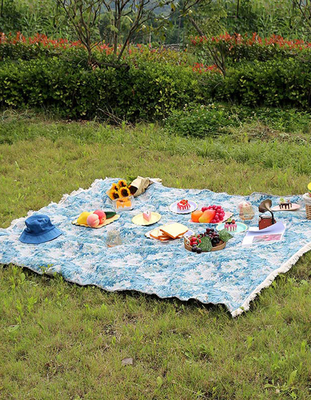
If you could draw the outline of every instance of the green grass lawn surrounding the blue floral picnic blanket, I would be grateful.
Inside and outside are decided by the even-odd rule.
[[[310,133],[265,141],[252,123],[204,140],[155,124],[2,113],[0,227],[105,176],[239,194],[305,192]],[[222,306],[107,293],[0,265],[0,399],[310,399],[310,304],[310,253],[235,319]],[[133,365],[122,365],[125,357]]]

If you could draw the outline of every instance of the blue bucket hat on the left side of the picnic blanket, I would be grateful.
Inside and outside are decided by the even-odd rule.
[[[23,243],[38,244],[53,240],[61,231],[44,214],[31,215],[25,220],[26,228],[21,233],[19,240]]]

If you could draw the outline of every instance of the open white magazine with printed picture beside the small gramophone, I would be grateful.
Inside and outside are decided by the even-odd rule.
[[[280,241],[283,239],[285,229],[286,223],[281,221],[264,229],[251,226],[242,241],[242,245],[247,246],[255,243],[270,243],[272,241]]]

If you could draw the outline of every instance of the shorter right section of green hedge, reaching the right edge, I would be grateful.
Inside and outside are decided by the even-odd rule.
[[[299,58],[254,61],[228,69],[227,76],[211,75],[209,96],[247,106],[311,104],[311,63]]]

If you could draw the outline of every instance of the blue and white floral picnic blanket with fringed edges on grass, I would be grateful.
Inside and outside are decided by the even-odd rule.
[[[0,262],[38,273],[44,267],[49,274],[57,272],[68,281],[93,284],[108,291],[138,290],[161,298],[223,303],[236,316],[249,309],[250,301],[262,288],[311,249],[311,220],[306,219],[304,205],[299,211],[276,213],[276,219],[285,222],[287,228],[283,240],[274,243],[244,247],[241,243],[245,233],[239,233],[223,250],[196,254],[184,248],[182,239],[161,243],[145,236],[152,227],[172,221],[182,222],[197,232],[205,230],[206,225],[189,222],[190,214],[174,214],[169,210],[169,205],[177,199],[194,200],[199,207],[221,204],[238,216],[238,203],[243,199],[257,207],[265,198],[278,203],[279,197],[265,193],[240,196],[208,189],[165,187],[155,182],[136,197],[133,210],[122,212],[112,224],[99,229],[71,224],[83,210],[111,208],[105,193],[117,180],[95,180],[88,189],[65,194],[58,203],[29,211],[27,216],[33,212],[47,214],[63,232],[52,241],[36,245],[21,243],[18,238],[26,217],[0,229]],[[299,195],[291,195],[291,199],[303,202]],[[132,217],[144,209],[157,211],[162,218],[152,226],[133,224]],[[258,224],[258,213],[249,224]],[[108,248],[105,240],[112,227],[119,230],[123,243]]]

